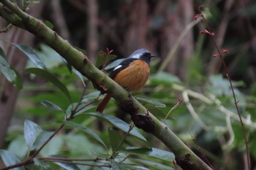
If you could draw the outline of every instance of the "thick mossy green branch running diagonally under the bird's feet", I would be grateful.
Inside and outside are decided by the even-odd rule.
[[[0,15],[10,23],[30,31],[32,34],[42,39],[46,44],[52,47],[63,58],[81,74],[89,78],[94,86],[99,90],[105,90],[116,99],[120,107],[131,115],[132,120],[138,128],[153,134],[176,155],[176,161],[183,169],[211,169],[192,150],[184,144],[172,131],[162,122],[157,120],[154,115],[146,110],[135,98],[129,97],[126,90],[121,88],[116,82],[111,80],[104,72],[97,69],[83,53],[69,45],[56,32],[45,26],[41,20],[31,17],[23,12],[15,4],[8,0],[0,0],[10,11],[15,13],[16,19],[10,19],[9,13],[4,12],[3,5],[0,4]],[[10,14],[14,15],[14,14]],[[18,17],[17,17],[18,16]]]

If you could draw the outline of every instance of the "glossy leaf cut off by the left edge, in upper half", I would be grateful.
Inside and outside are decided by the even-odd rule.
[[[20,73],[9,65],[6,61],[6,56],[4,55],[4,50],[0,47],[0,71],[4,74],[4,77],[7,78],[9,82],[16,85],[18,89],[22,88],[22,80],[20,77]]]

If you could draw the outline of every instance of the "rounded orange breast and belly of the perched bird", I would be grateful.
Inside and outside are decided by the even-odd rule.
[[[148,64],[145,61],[136,60],[130,63],[126,69],[119,72],[113,80],[123,88],[136,92],[146,84],[149,74]]]

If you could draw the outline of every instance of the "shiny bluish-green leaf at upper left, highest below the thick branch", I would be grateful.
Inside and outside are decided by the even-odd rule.
[[[19,44],[12,44],[15,47],[18,47],[26,56],[34,63],[35,66],[39,69],[46,69],[45,64],[41,61],[38,57],[37,53],[34,51],[33,48],[26,46],[26,45],[19,45]]]

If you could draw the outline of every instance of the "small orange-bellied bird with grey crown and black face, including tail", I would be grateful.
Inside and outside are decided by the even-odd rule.
[[[135,50],[127,59],[110,72],[109,77],[129,92],[137,92],[146,84],[150,74],[149,63],[154,55],[144,49]],[[103,112],[111,96],[106,94],[96,111]]]

